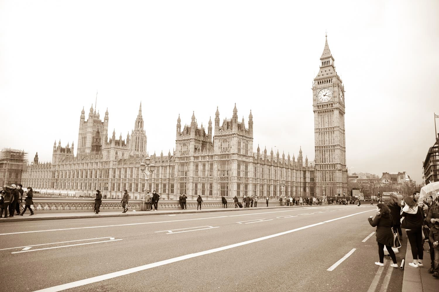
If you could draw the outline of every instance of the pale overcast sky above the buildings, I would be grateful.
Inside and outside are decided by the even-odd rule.
[[[439,113],[439,2],[300,2],[0,0],[0,148],[40,162],[54,141],[76,148],[98,92],[109,137],[131,133],[142,102],[150,155],[172,152],[179,114],[207,130],[217,106],[223,120],[236,103],[240,121],[252,110],[254,150],[302,147],[312,161],[327,33],[349,171],[421,182]]]

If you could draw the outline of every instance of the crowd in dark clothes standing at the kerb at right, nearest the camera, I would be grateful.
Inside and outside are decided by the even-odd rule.
[[[378,243],[378,266],[384,266],[384,247],[389,252],[393,263],[398,267],[396,256],[392,250],[395,236],[399,234],[402,240],[402,229],[406,229],[410,242],[413,261],[410,267],[424,267],[424,242],[428,241],[430,253],[430,268],[428,273],[439,278],[439,197],[427,197],[425,201],[419,200],[420,193],[406,196],[402,201],[396,194],[390,194],[389,204],[377,204],[377,214],[369,217],[369,223],[376,227],[376,240]]]

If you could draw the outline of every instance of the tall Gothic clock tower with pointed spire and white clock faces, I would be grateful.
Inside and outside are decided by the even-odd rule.
[[[345,90],[327,36],[313,83],[317,196],[349,196],[345,145]]]

